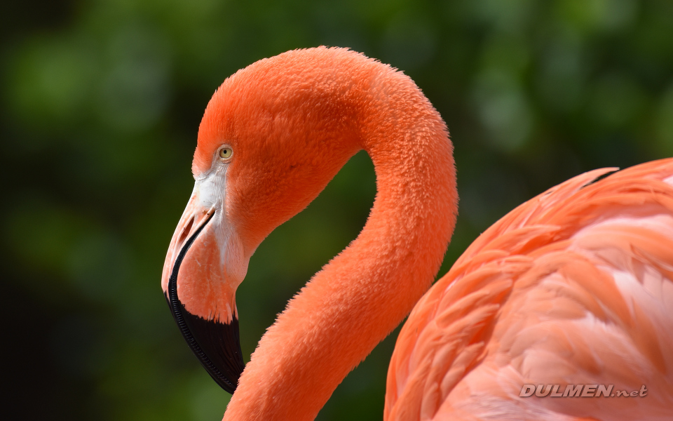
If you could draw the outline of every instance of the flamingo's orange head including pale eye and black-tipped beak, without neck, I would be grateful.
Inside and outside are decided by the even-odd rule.
[[[196,182],[161,284],[184,338],[230,393],[244,368],[235,296],[250,256],[360,149],[347,115],[353,104],[325,70],[339,55],[360,56],[317,48],[240,70],[215,92],[198,129]]]

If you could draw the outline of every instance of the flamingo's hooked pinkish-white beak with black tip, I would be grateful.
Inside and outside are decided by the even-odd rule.
[[[170,241],[161,286],[177,326],[198,361],[233,394],[245,363],[240,351],[236,288],[247,258],[224,218],[224,183],[198,180]],[[214,194],[222,189],[222,194]]]

